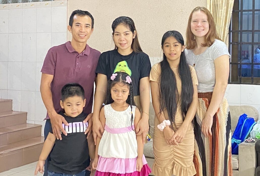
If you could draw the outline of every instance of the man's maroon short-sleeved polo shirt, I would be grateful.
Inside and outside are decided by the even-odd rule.
[[[85,91],[84,113],[91,113],[93,105],[94,81],[100,52],[86,45],[82,53],[75,51],[70,41],[49,49],[42,66],[42,73],[54,75],[51,82],[53,105],[56,112],[60,106],[61,89],[67,83],[79,83]],[[46,119],[49,119],[47,113]]]

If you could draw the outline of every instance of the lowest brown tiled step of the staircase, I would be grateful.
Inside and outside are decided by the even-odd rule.
[[[38,161],[44,137],[0,146],[0,172]]]

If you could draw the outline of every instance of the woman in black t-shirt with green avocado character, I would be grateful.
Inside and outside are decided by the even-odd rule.
[[[106,98],[107,80],[113,73],[122,71],[129,74],[133,80],[134,101],[142,114],[135,131],[136,135],[143,135],[143,142],[145,142],[149,129],[151,62],[149,56],[142,52],[131,18],[125,16],[116,18],[112,23],[112,30],[115,49],[102,53],[96,68],[97,85],[93,112],[94,141],[96,143],[96,136],[101,138],[104,131],[99,121],[99,113]]]

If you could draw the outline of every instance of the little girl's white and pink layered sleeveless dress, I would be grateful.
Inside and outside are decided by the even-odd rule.
[[[135,106],[132,106],[133,117]],[[105,105],[106,125],[99,143],[95,176],[147,176],[151,173],[143,155],[141,172],[136,171],[137,141],[131,125],[131,107],[116,111]]]

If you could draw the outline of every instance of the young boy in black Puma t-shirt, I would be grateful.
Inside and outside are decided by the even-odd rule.
[[[63,86],[60,105],[64,111],[59,114],[69,123],[69,126],[62,124],[67,136],[61,134],[62,140],[56,140],[52,132],[48,134],[35,175],[38,171],[44,172],[43,166],[49,154],[48,175],[85,176],[85,172],[88,172],[85,169],[90,165],[90,158],[94,159],[95,145],[93,138],[87,139],[87,135],[84,134],[88,127],[88,122],[83,123],[88,115],[82,112],[85,104],[84,89],[80,84],[70,83]]]

